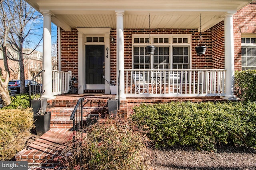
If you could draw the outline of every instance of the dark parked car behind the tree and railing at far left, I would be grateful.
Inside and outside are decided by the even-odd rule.
[[[28,82],[30,80],[25,80],[25,89],[26,93],[28,93]],[[20,80],[9,80],[8,89],[10,90],[10,95],[20,94]],[[31,82],[31,92],[42,91],[42,84],[32,81]]]

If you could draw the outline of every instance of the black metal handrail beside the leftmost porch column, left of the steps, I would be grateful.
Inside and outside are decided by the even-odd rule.
[[[32,80],[30,80],[27,84],[28,86],[28,94],[29,94],[29,107],[31,107],[31,100],[34,98],[41,98],[43,92],[43,72],[40,71]]]

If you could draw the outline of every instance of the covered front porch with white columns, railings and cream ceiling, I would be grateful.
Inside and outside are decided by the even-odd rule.
[[[104,46],[103,62],[104,62],[104,79],[113,80],[116,86],[116,98],[126,100],[128,97],[193,97],[193,96],[220,96],[224,99],[235,99],[234,96],[234,32],[233,32],[233,15],[237,10],[252,2],[252,0],[200,0],[190,1],[184,0],[171,1],[45,1],[45,0],[26,0],[34,8],[36,8],[44,16],[44,43],[43,43],[43,70],[44,82],[42,97],[52,99],[57,94],[66,93],[70,82],[70,76],[63,78],[62,73],[68,74],[68,64],[63,65],[64,58],[63,45],[60,43],[65,35],[60,36],[60,32],[73,32],[74,45],[70,45],[72,51],[68,56],[76,59],[73,75],[78,78],[78,94],[83,94],[88,87],[86,82],[86,47],[93,44],[89,43],[87,38],[104,38],[99,40],[96,45]],[[136,5],[135,5],[136,4]],[[137,69],[134,64],[134,47],[142,47],[139,43],[134,42],[134,38],[146,39],[150,29],[148,29],[148,14],[151,16],[151,29],[164,29],[168,43],[169,60],[172,59],[172,50],[174,46],[188,47],[188,63],[187,68],[174,69],[172,63],[168,63],[168,69],[154,69],[154,67]],[[220,34],[218,41],[213,41],[213,34],[209,35],[209,46],[216,46],[220,43],[220,49],[213,50],[209,47],[210,52],[208,58],[218,57],[223,60],[218,65],[212,64],[204,69],[205,65],[196,65],[196,57],[194,47],[197,45],[199,32],[201,31],[200,14],[202,14],[202,32],[211,29],[215,25],[224,21],[224,34]],[[51,22],[58,26],[58,70],[51,71]],[[222,28],[222,27],[221,27]],[[140,29],[140,35],[134,35],[129,39],[130,35],[126,32]],[[171,31],[169,31],[171,29]],[[218,29],[218,27],[216,27]],[[144,30],[144,32],[143,32]],[[197,33],[194,31],[196,30]],[[190,33],[191,32],[191,33]],[[131,33],[132,34],[132,33]],[[162,35],[152,33],[156,39]],[[152,35],[151,34],[151,35]],[[164,34],[164,33],[161,33]],[[186,43],[173,43],[176,35],[184,36]],[[132,34],[133,36],[133,34]],[[150,34],[149,34],[150,36]],[[114,41],[112,42],[112,38]],[[128,37],[128,38],[127,38]],[[162,36],[163,37],[163,36]],[[166,38],[164,37],[164,38]],[[222,39],[223,38],[223,39]],[[74,42],[72,39],[72,42]],[[128,41],[127,41],[128,39]],[[150,39],[150,38],[149,38]],[[223,41],[222,41],[223,40]],[[102,41],[102,42],[101,42]],[[160,41],[159,41],[160,42]],[[162,44],[156,43],[161,46]],[[145,44],[145,43],[144,43]],[[144,45],[143,44],[143,45]],[[154,37],[150,39],[149,45],[154,45]],[[66,45],[65,47],[68,47]],[[74,50],[73,50],[74,49]],[[74,53],[74,51],[76,53]],[[65,54],[68,52],[65,52]],[[73,55],[74,53],[74,55]],[[66,58],[65,58],[66,59]],[[71,59],[66,59],[67,62]],[[200,59],[199,59],[200,60]],[[102,63],[103,63],[102,62]],[[153,61],[150,61],[153,64]],[[194,63],[193,63],[194,62]],[[116,68],[113,68],[115,67]],[[120,75],[118,75],[120,71]],[[65,72],[65,73],[64,73]],[[135,75],[135,77],[133,76]],[[137,80],[136,78],[143,79]],[[109,85],[106,81],[101,84],[105,93],[110,93]],[[64,90],[64,87],[67,88]],[[96,87],[96,86],[95,86]]]

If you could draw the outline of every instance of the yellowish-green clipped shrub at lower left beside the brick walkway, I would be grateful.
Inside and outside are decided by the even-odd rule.
[[[33,123],[31,109],[0,110],[0,160],[10,160],[22,150]]]

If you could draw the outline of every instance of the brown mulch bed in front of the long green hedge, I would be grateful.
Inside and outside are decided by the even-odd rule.
[[[151,150],[152,170],[256,170],[256,149],[218,147],[216,152],[194,148]]]

